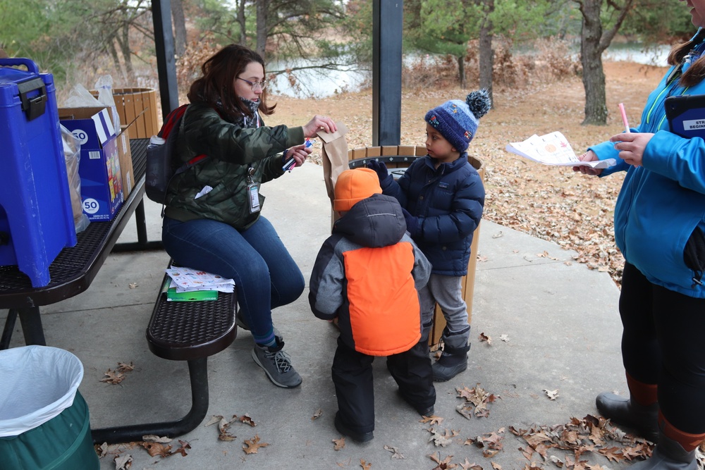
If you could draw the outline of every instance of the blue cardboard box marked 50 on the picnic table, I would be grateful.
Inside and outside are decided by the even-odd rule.
[[[90,221],[111,221],[124,201],[120,151],[125,146],[118,144],[109,107],[61,108],[59,120],[81,142],[83,213]]]

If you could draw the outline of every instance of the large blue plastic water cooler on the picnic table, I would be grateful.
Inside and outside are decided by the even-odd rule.
[[[0,59],[0,266],[42,287],[75,244],[54,78],[27,58]]]

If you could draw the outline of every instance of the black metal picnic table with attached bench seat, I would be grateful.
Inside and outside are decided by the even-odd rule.
[[[78,234],[75,247],[64,248],[49,266],[51,282],[32,287],[17,266],[0,266],[0,309],[8,309],[0,350],[8,349],[19,317],[27,345],[46,345],[39,307],[54,304],[90,287],[111,252],[161,249],[161,242],[147,240],[145,223],[145,173],[149,139],[130,140],[135,187],[112,221],[90,223]],[[137,242],[117,245],[130,216],[135,214]],[[171,261],[170,261],[171,264]],[[225,349],[237,335],[235,292],[219,295],[215,302],[166,302],[159,289],[152,318],[146,328],[149,349],[164,359],[187,361],[191,408],[180,419],[92,429],[94,443],[142,440],[143,435],[176,436],[192,431],[208,410],[207,359]]]

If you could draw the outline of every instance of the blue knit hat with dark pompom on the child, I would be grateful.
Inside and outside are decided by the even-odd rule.
[[[451,99],[431,109],[424,120],[436,128],[456,150],[463,152],[477,132],[479,118],[491,106],[489,93],[486,89],[480,89],[468,94],[465,102]]]

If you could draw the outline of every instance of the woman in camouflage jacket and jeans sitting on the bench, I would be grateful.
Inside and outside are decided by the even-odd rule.
[[[335,132],[333,120],[314,116],[302,127],[268,127],[264,60],[231,44],[202,66],[190,87],[176,142],[178,164],[205,154],[176,175],[166,194],[162,240],[181,266],[235,280],[238,326],[255,339],[252,358],[275,385],[301,383],[272,324],[271,309],[301,295],[304,278],[271,223],[260,215],[262,183],[283,175],[293,159],[300,166],[311,152],[305,137]],[[290,163],[290,162],[288,162]],[[290,168],[290,167],[288,167]]]

